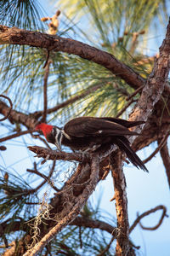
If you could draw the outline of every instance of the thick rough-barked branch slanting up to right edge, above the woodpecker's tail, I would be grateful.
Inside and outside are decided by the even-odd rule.
[[[161,98],[164,86],[167,83],[167,77],[170,68],[170,21],[167,26],[166,38],[160,47],[160,55],[156,59],[155,67],[150,73],[149,79],[144,86],[142,95],[139,98],[137,106],[133,109],[129,120],[146,121],[152,113],[156,102]],[[143,125],[144,126],[144,125]],[[141,131],[141,127],[137,127],[135,131]],[[131,140],[133,142],[133,139]]]

